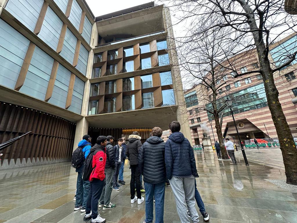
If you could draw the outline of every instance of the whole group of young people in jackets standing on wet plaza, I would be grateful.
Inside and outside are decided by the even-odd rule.
[[[125,185],[121,170],[126,158],[129,159],[131,168],[131,203],[137,201],[141,204],[145,200],[146,218],[143,223],[153,222],[154,202],[155,222],[164,222],[165,186],[170,185],[181,222],[189,223],[189,218],[194,223],[199,222],[195,200],[203,219],[209,219],[196,187],[195,177],[199,176],[192,146],[180,132],[181,126],[177,121],[170,123],[169,128],[172,134],[166,143],[161,138],[162,129],[159,127],[152,129],[151,137],[143,144],[137,131],[129,135],[127,145],[123,138],[118,139],[118,144],[113,146],[112,136],[99,136],[97,143],[91,147],[90,136],[83,136],[78,146],[82,147],[86,161],[92,158],[92,170],[86,182],[81,179],[82,171],[79,172],[77,169],[75,210],[81,209],[82,212],[86,212],[84,222],[90,219],[92,223],[105,222],[98,214],[98,202],[99,207],[103,206],[103,210],[116,207],[110,202],[110,196],[112,190],[118,191],[121,185]],[[143,176],[145,199],[141,195],[140,176]]]

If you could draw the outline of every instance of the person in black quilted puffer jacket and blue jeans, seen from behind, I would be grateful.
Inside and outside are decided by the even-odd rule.
[[[146,190],[146,219],[143,223],[154,220],[155,197],[155,223],[163,223],[164,196],[165,196],[165,143],[161,138],[162,129],[154,127],[151,137],[143,143],[139,152],[139,169],[143,175],[144,188]]]

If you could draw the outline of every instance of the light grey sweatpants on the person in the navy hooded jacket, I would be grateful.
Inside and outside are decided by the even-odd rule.
[[[190,223],[187,210],[190,212],[192,222],[199,222],[199,216],[195,208],[195,178],[175,177],[169,180],[175,197],[176,209],[182,223]]]

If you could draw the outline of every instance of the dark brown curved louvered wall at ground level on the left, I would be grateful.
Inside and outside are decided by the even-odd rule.
[[[37,162],[70,160],[76,125],[54,115],[18,105],[0,102],[0,144],[26,132],[0,153],[8,164],[20,159]]]

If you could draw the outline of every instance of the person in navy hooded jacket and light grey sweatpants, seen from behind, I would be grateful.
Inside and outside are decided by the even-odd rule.
[[[189,210],[192,222],[199,222],[195,208],[195,178],[197,173],[193,148],[188,139],[180,132],[181,125],[177,121],[169,124],[172,134],[165,144],[166,174],[175,197],[179,219],[190,223],[187,216]]]

